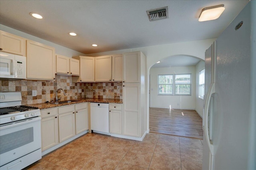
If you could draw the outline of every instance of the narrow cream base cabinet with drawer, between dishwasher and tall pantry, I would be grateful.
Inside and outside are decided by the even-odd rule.
[[[122,104],[109,104],[109,131],[122,134]]]

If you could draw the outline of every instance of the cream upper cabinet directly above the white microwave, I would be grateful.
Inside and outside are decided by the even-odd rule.
[[[0,50],[26,56],[26,39],[0,31]]]

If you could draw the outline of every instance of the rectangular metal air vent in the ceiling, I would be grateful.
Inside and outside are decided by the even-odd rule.
[[[168,6],[147,11],[150,21],[168,18]]]

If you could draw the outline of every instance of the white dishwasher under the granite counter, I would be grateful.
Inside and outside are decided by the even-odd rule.
[[[109,104],[91,103],[91,130],[109,135]]]

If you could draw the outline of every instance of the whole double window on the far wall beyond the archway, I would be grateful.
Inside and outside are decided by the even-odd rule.
[[[191,95],[191,74],[158,75],[158,94]]]

